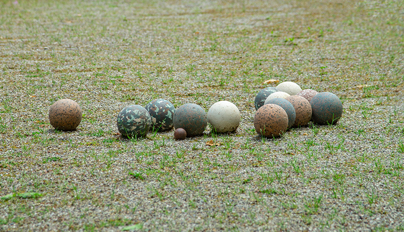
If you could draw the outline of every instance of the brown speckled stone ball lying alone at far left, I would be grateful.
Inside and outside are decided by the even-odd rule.
[[[76,130],[81,118],[80,105],[71,99],[60,99],[49,109],[49,122],[56,130]]]

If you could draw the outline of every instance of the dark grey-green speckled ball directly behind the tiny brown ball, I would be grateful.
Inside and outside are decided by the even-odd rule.
[[[173,124],[176,129],[183,128],[187,137],[193,137],[204,133],[208,121],[202,107],[186,103],[175,110]]]

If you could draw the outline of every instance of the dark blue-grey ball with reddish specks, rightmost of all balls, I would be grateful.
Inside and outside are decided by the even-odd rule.
[[[313,122],[320,125],[333,125],[342,115],[342,102],[337,95],[321,92],[310,101]]]

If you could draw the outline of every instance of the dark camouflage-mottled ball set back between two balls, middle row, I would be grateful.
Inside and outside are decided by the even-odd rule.
[[[174,105],[165,99],[150,101],[145,107],[150,114],[154,131],[169,131],[173,129]]]

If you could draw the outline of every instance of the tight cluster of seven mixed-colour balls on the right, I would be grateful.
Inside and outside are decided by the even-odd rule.
[[[342,115],[342,102],[335,94],[301,90],[291,81],[260,90],[254,104],[254,127],[267,138],[279,137],[291,127],[307,126],[310,121],[333,125]]]

